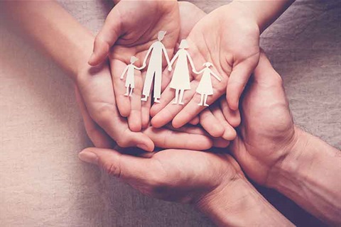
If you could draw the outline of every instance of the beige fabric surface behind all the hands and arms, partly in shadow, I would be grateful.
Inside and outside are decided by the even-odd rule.
[[[207,12],[224,4],[193,2]],[[64,1],[63,6],[96,32],[111,4]],[[340,16],[341,1],[297,1],[261,40],[283,77],[296,123],[337,148]],[[80,162],[77,153],[91,143],[72,84],[27,42],[1,18],[0,226],[212,225],[190,206],[147,198]],[[299,226],[320,225],[283,196],[261,192]]]

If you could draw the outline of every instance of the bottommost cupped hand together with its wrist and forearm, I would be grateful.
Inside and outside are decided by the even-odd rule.
[[[79,157],[143,194],[193,204],[218,226],[293,226],[252,187],[233,157],[224,153],[162,150],[136,157],[87,148]]]

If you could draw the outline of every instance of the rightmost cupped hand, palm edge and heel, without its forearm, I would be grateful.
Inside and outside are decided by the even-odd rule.
[[[230,149],[243,170],[266,184],[271,170],[288,155],[296,130],[281,76],[264,53],[241,101],[242,123]]]

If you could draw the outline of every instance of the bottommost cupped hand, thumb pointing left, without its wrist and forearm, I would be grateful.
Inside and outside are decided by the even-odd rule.
[[[162,150],[136,157],[116,150],[87,148],[79,157],[143,194],[168,201],[195,203],[244,177],[237,162],[227,154]]]

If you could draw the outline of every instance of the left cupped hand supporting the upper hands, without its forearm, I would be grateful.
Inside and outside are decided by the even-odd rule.
[[[158,148],[206,150],[212,140],[200,128],[185,127],[182,131],[148,127],[142,132],[129,129],[126,118],[119,114],[115,104],[112,77],[108,64],[85,66],[77,75],[76,97],[85,129],[98,148],[139,147],[152,151]]]

